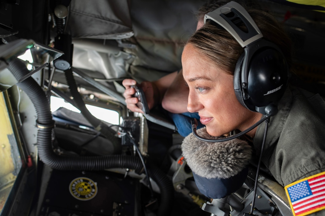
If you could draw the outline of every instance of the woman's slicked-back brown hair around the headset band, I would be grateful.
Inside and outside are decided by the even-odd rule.
[[[264,38],[275,43],[283,52],[287,63],[291,65],[291,40],[286,34],[282,24],[273,16],[263,10],[247,9]],[[241,23],[239,27],[245,30]],[[229,74],[233,74],[238,58],[244,49],[240,44],[219,25],[207,21],[189,39],[187,44],[191,44],[197,51],[210,59],[215,66]]]

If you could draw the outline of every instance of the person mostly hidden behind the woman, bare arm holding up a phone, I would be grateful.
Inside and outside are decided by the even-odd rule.
[[[203,25],[204,15],[210,12],[211,8],[216,8],[226,3],[226,0],[205,1],[196,14],[198,20],[196,29],[199,29]],[[136,80],[124,79],[122,84],[125,87],[123,96],[127,108],[132,112],[143,113],[143,111],[136,106],[138,99],[133,96],[135,90],[132,88],[132,85],[136,85]],[[184,84],[182,69],[170,73],[156,81],[143,81],[140,86],[145,93],[149,109],[161,104],[169,117],[173,119],[178,133],[186,137],[191,132],[189,119],[196,117],[197,114],[187,111],[188,89]],[[201,124],[199,125],[199,127],[202,126]]]

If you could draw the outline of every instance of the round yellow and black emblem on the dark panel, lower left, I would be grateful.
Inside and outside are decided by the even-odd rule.
[[[79,200],[89,200],[96,196],[96,183],[85,177],[79,177],[72,180],[69,186],[71,195]]]

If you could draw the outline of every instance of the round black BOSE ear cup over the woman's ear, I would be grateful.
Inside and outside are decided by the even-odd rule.
[[[272,47],[255,51],[247,60],[247,70],[243,68],[244,59],[245,52],[238,58],[234,71],[235,95],[245,108],[264,114],[265,107],[276,105],[284,94],[289,76],[287,63],[283,54]],[[241,80],[242,77],[247,80]]]

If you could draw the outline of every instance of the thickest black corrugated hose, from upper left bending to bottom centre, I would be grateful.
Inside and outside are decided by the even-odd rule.
[[[9,62],[8,69],[19,80],[22,76],[29,73],[28,69],[19,59]],[[52,131],[54,121],[48,103],[48,98],[43,89],[37,82],[29,77],[17,83],[28,97],[31,99],[37,113],[37,148],[40,159],[48,166],[58,170],[88,170],[97,171],[111,168],[134,169],[136,173],[143,172],[143,165],[139,158],[126,155],[105,155],[105,156],[60,156],[54,153],[52,148]],[[149,174],[157,183],[161,191],[161,203],[157,215],[170,215],[174,191],[171,181],[158,168],[150,167]]]

